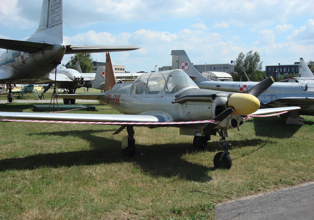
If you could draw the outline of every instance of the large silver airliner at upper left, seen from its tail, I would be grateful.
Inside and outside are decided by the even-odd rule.
[[[140,48],[65,45],[62,33],[62,0],[43,0],[39,27],[35,34],[23,40],[0,39],[0,48],[6,49],[0,55],[0,82],[10,85],[9,102],[13,100],[12,84],[43,84],[51,81],[48,75],[61,63],[64,54],[131,51]],[[73,93],[75,85],[82,80],[70,77],[69,81],[74,81],[74,86],[70,86],[73,87]]]

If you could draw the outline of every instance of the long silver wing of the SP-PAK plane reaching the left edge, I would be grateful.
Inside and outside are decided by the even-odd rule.
[[[0,119],[45,121],[77,121],[77,122],[165,122],[161,116],[153,115],[104,115],[73,113],[36,113],[36,112],[0,112]]]

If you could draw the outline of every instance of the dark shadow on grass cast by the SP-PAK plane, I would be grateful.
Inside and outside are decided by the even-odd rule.
[[[61,153],[46,153],[27,156],[24,158],[8,158],[0,160],[0,171],[7,169],[37,169],[40,167],[58,168],[62,166],[71,167],[80,165],[111,164],[119,162],[131,162],[138,166],[143,173],[154,177],[178,176],[180,179],[208,182],[212,178],[208,171],[214,167],[207,167],[186,161],[182,155],[202,153],[195,150],[191,143],[178,144],[155,144],[144,146],[137,144],[135,157],[129,158],[122,155],[121,142],[106,137],[95,136],[97,133],[115,131],[106,130],[73,130],[33,133],[30,135],[52,135],[52,136],[75,136],[89,142],[90,150],[70,151]],[[262,139],[233,141],[236,148],[258,145]],[[208,142],[208,151],[216,151],[217,142]],[[143,153],[141,155],[140,153]],[[212,160],[209,158],[210,163]]]

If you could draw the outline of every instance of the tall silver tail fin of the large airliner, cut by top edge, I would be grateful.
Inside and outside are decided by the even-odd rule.
[[[62,0],[43,0],[39,26],[34,35],[48,35],[54,39],[39,37],[38,42],[62,44]],[[34,40],[35,38],[30,38]],[[50,41],[50,42],[49,42]]]

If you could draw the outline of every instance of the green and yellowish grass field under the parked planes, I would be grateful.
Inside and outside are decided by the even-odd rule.
[[[221,202],[314,180],[314,117],[304,117],[303,126],[273,116],[228,130],[229,170],[214,169],[219,137],[197,151],[178,128],[135,127],[127,158],[127,132],[111,135],[118,126],[0,122],[0,219],[214,219]]]

